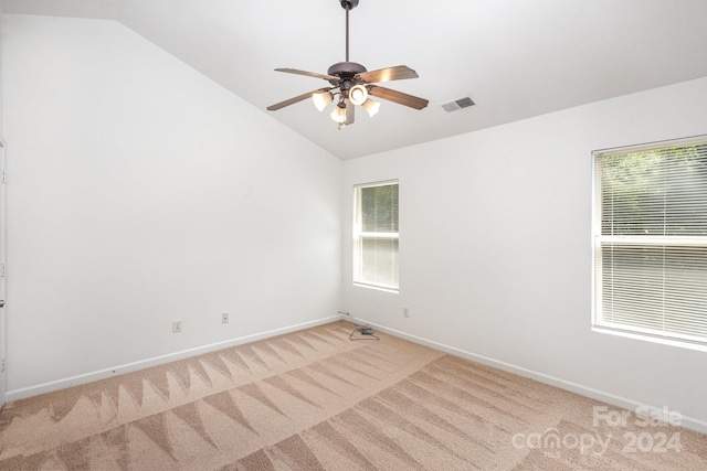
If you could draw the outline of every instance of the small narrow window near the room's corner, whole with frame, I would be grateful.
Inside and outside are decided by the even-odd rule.
[[[398,291],[398,182],[354,188],[354,282]]]

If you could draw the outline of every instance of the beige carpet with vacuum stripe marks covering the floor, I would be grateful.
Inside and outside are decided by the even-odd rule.
[[[1,470],[707,470],[707,436],[346,322],[8,404]],[[593,406],[603,406],[601,417]],[[597,422],[597,424],[594,424]]]

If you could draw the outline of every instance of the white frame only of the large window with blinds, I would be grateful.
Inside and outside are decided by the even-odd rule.
[[[707,135],[694,136],[682,139],[650,142],[636,146],[620,148],[600,149],[592,151],[592,307],[591,325],[592,331],[620,335],[636,340],[662,343],[672,346],[686,347],[692,350],[707,351],[707,335],[687,335],[679,332],[657,332],[655,329],[642,328],[640,325],[626,325],[625,323],[613,323],[604,319],[603,307],[603,251],[602,243],[633,246],[662,246],[665,248],[705,247],[707,236],[684,236],[684,235],[603,235],[602,234],[602,175],[603,167],[600,160],[608,156],[618,156],[631,152],[679,149],[689,146],[707,144]],[[665,291],[665,288],[663,288]]]

